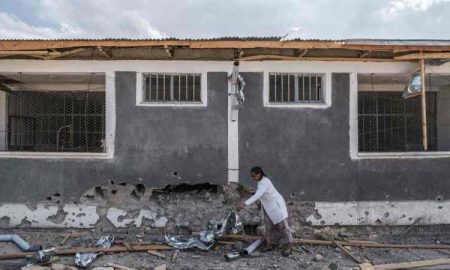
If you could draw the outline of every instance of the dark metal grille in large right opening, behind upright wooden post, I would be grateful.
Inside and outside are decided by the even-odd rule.
[[[360,152],[423,151],[421,97],[402,92],[358,92]],[[436,93],[427,92],[429,150],[437,149]]]

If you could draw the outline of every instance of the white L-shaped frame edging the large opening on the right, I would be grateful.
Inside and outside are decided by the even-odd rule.
[[[350,73],[350,158],[361,159],[424,159],[450,158],[450,151],[433,152],[359,152],[358,149],[358,73]]]

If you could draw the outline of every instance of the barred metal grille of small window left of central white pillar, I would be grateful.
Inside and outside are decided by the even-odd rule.
[[[201,74],[144,74],[145,102],[201,102]]]

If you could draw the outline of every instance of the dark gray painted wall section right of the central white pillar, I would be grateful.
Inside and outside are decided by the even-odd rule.
[[[245,73],[239,114],[240,179],[266,170],[285,197],[311,201],[450,198],[450,159],[349,158],[349,76],[332,75],[328,109],[263,106],[262,73]]]

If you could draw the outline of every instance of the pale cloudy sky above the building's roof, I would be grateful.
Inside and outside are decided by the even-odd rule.
[[[450,39],[450,0],[0,0],[0,38]]]

